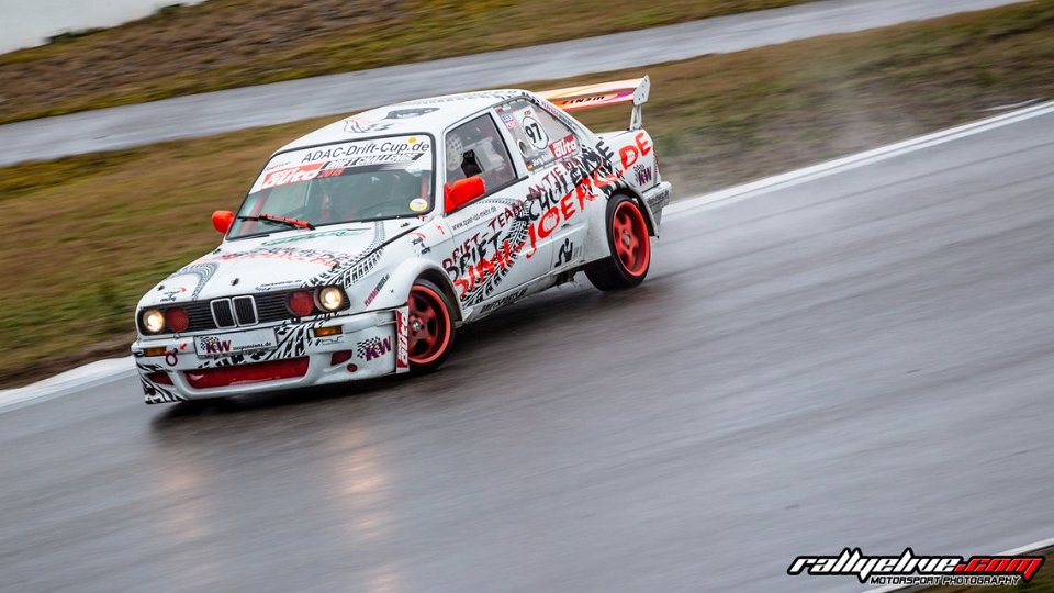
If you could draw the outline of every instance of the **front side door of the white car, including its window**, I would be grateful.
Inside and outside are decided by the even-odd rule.
[[[442,267],[463,306],[471,307],[545,276],[551,266],[548,245],[532,240],[527,214],[530,178],[512,158],[491,110],[447,131],[444,183],[483,179],[484,193],[452,212],[446,222],[453,246]]]

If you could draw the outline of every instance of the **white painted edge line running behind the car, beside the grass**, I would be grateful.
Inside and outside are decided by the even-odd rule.
[[[1039,118],[1054,113],[1054,101],[1033,105],[1011,113],[1005,113],[995,118],[980,120],[978,122],[952,127],[942,132],[927,134],[917,138],[898,142],[882,148],[866,150],[855,155],[820,163],[804,169],[798,169],[775,177],[760,179],[751,183],[736,186],[714,193],[697,195],[679,200],[673,205],[665,209],[663,217],[679,219],[695,214],[702,210],[714,208],[716,205],[727,205],[741,200],[747,200],[755,195],[769,193],[778,189],[790,188],[808,181],[830,177],[843,171],[856,169],[887,160],[894,157],[924,150],[932,146],[938,146],[953,142],[967,136],[982,134],[990,130],[996,130],[1007,125],[1012,125],[1025,120]],[[134,365],[131,358],[109,359],[92,362],[85,367],[64,372],[51,379],[45,379],[32,385],[20,389],[0,390],[0,413],[14,407],[26,405],[32,402],[44,401],[64,393],[69,393],[78,389],[83,389],[89,383],[100,384],[125,374],[131,376]]]

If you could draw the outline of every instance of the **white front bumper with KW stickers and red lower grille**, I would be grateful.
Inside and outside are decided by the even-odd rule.
[[[146,403],[323,385],[408,371],[404,320],[406,307],[235,332],[141,337],[132,355]],[[333,327],[339,333],[316,335]],[[198,351],[195,338],[233,337],[236,343],[236,334],[260,329],[274,331],[276,347],[224,355]]]

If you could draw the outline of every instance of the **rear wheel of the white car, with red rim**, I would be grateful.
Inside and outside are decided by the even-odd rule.
[[[631,198],[616,195],[607,202],[607,246],[612,253],[585,268],[601,290],[620,290],[644,281],[651,268],[651,237],[644,213]]]

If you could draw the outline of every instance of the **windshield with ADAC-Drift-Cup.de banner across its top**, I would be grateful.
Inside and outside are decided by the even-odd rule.
[[[417,216],[433,206],[434,163],[431,137],[423,134],[281,153],[253,184],[227,236]]]

